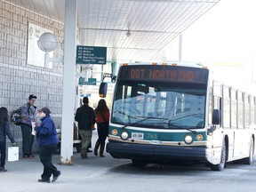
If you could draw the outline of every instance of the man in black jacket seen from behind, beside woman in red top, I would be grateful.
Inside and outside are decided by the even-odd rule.
[[[76,110],[75,120],[82,137],[81,157],[87,158],[87,148],[92,140],[92,126],[96,122],[96,116],[93,108],[89,107],[88,97],[83,98],[83,103],[84,105]]]

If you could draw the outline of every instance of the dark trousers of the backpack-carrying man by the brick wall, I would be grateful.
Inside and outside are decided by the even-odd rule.
[[[22,132],[22,152],[23,156],[32,155],[32,147],[34,143],[34,135],[31,134],[32,127],[28,124],[20,125]]]

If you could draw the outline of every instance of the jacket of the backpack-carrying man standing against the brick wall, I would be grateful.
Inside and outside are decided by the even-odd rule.
[[[25,103],[21,108],[22,124],[31,126],[31,121],[36,122],[36,106]]]

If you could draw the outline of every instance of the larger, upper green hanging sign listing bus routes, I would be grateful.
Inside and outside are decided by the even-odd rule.
[[[107,62],[107,47],[76,46],[76,64],[100,64]]]

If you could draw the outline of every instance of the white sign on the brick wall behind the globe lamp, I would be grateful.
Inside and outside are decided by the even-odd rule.
[[[29,65],[44,67],[44,53],[39,49],[37,41],[45,32],[53,33],[52,30],[36,26],[28,23],[28,55],[27,61]],[[49,52],[50,57],[53,57],[53,52]],[[49,63],[49,68],[52,68],[52,63]]]

